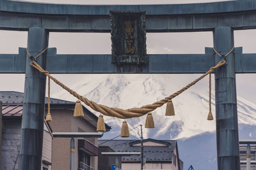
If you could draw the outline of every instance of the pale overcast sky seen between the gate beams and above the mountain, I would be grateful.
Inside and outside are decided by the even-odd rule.
[[[52,0],[33,0],[35,2],[51,2]],[[55,0],[56,3],[70,3],[65,0]],[[156,4],[156,3],[196,3],[212,2],[207,0],[172,1],[172,0],[129,0],[129,4]],[[72,1],[72,4],[127,4],[127,1]],[[18,53],[19,47],[27,46],[27,32],[22,31],[0,31],[0,53]],[[243,46],[244,53],[256,53],[255,41],[256,31],[235,31],[235,46]],[[56,33],[51,32],[49,46],[56,47],[57,53],[111,53],[110,33]],[[204,53],[205,46],[212,46],[212,32],[168,32],[147,33],[147,53]],[[58,74],[54,75],[67,85],[74,81],[81,81],[81,74]],[[143,75],[141,75],[143,76]],[[177,74],[186,79],[189,76]],[[83,76],[84,77],[84,76]],[[24,74],[0,74],[0,90],[24,91]],[[256,74],[237,74],[237,95],[256,103],[255,85]],[[52,85],[52,91],[60,90]]]

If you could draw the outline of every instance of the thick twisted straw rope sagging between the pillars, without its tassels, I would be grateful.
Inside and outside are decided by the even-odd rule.
[[[234,48],[232,48],[232,50],[234,50]],[[230,52],[232,52],[232,50]],[[27,52],[28,52],[28,50],[27,50]],[[29,52],[28,52],[28,55],[31,56],[29,54]],[[86,97],[83,97],[83,96],[77,94],[77,92],[74,92],[73,90],[68,88],[66,85],[64,85],[63,83],[58,81],[56,78],[52,77],[51,74],[48,71],[45,71],[44,69],[42,69],[42,67],[39,64],[37,64],[35,60],[33,60],[33,62],[31,62],[31,66],[35,67],[35,69],[37,69],[41,73],[44,73],[46,76],[51,78],[51,80],[53,80],[55,83],[60,85],[60,87],[67,90],[70,94],[72,94],[72,96],[77,97],[77,99],[83,101],[84,104],[86,104],[87,106],[90,106],[90,108],[92,108],[93,110],[98,111],[98,112],[102,113],[103,115],[106,115],[109,117],[117,117],[117,118],[125,119],[125,118],[132,118],[132,117],[141,117],[150,111],[156,110],[156,108],[163,106],[163,104],[167,103],[169,100],[172,100],[174,97],[179,96],[179,94],[181,94],[185,90],[189,89],[189,87],[195,85],[195,83],[202,80],[202,78],[204,78],[208,74],[212,73],[212,71],[214,71],[214,69],[217,69],[218,67],[223,66],[225,63],[226,63],[225,60],[220,61],[216,66],[211,67],[209,69],[209,71],[207,71],[205,74],[203,74],[202,76],[197,78],[195,81],[189,83],[188,85],[186,85],[179,91],[173,93],[171,96],[161,99],[161,101],[157,101],[153,104],[148,104],[148,105],[142,106],[141,108],[131,108],[131,109],[127,109],[127,110],[122,110],[119,108],[109,108],[108,106],[104,106],[102,104],[97,104],[93,101],[90,101]]]

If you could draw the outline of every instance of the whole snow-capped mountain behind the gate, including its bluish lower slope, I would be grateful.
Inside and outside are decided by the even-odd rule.
[[[86,74],[81,81],[71,87],[77,93],[99,104],[116,108],[138,108],[170,96],[195,80],[198,75],[185,74]],[[213,80],[214,78],[212,78]],[[214,89],[214,85],[212,85]],[[68,92],[60,90],[52,97],[76,101]],[[165,117],[166,106],[152,112],[155,129],[143,129],[143,138],[177,139],[179,157],[184,161],[184,169],[193,164],[195,169],[217,169],[216,122],[208,121],[209,78],[204,78],[173,100],[174,117]],[[212,114],[215,117],[214,91],[212,91]],[[88,106],[86,108],[90,109]],[[99,116],[90,109],[95,115]],[[240,139],[256,139],[256,104],[237,96],[237,111]],[[129,128],[145,124],[146,117],[127,120]],[[122,121],[104,117],[111,125],[110,132],[104,134],[111,139],[120,134]],[[140,129],[130,131],[131,138],[140,137]]]

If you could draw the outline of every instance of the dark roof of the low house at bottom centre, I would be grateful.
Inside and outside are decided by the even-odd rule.
[[[177,141],[175,140],[155,140],[144,139],[143,142],[153,141],[157,143],[169,144],[168,146],[144,146],[144,155],[147,162],[172,162],[173,152]],[[99,140],[99,146],[109,146],[115,152],[141,152],[141,146],[134,146],[140,140]],[[141,156],[132,155],[122,157],[123,162],[140,162]]]

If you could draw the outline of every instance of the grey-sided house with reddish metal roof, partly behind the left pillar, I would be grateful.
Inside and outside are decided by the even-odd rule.
[[[3,105],[0,108],[3,115],[1,133],[1,169],[18,169],[23,94],[19,92],[0,92],[0,101],[3,101]],[[51,164],[52,130],[49,124],[44,122],[42,169],[51,170]]]

